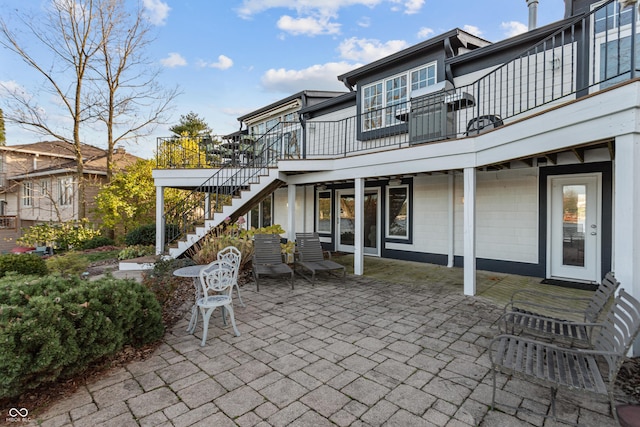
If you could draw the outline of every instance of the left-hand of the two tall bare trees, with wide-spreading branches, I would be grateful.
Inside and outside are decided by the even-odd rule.
[[[82,102],[84,83],[90,71],[89,65],[99,52],[102,41],[93,30],[95,18],[93,0],[56,0],[49,3],[44,22],[36,17],[17,15],[22,28],[30,32],[45,48],[47,57],[38,58],[37,49],[28,51],[9,29],[5,19],[0,19],[0,45],[18,55],[44,79],[38,98],[51,95],[71,121],[70,128],[61,121],[51,119],[38,99],[24,91],[9,91],[10,109],[7,121],[17,123],[42,135],[51,136],[73,144],[76,158],[76,179],[80,217],[86,216],[86,197],[80,128],[89,119],[89,111]],[[49,62],[49,63],[48,63]]]

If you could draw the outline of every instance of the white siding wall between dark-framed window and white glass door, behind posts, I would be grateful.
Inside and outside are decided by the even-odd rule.
[[[463,255],[463,183],[454,189],[455,254]],[[449,247],[448,177],[417,176],[413,181],[413,244],[388,249],[446,255]],[[478,172],[477,255],[503,261],[538,262],[538,171],[534,168]]]

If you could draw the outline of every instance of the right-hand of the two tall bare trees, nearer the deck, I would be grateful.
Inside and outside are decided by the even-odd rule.
[[[92,105],[107,129],[107,180],[111,181],[116,144],[151,134],[165,120],[178,91],[164,90],[157,83],[159,70],[145,56],[152,39],[140,7],[128,13],[124,0],[106,0],[98,16],[103,42]]]

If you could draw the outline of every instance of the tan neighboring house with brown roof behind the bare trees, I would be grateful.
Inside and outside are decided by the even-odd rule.
[[[87,216],[92,219],[93,199],[106,182],[107,151],[82,144],[86,179]],[[117,169],[138,157],[117,148]],[[62,141],[0,147],[0,250],[16,246],[21,229],[38,223],[62,222],[78,217],[74,148]]]

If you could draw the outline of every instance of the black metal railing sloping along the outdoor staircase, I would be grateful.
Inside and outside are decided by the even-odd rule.
[[[283,139],[283,125],[278,123],[247,147],[236,142],[233,161],[222,165],[200,186],[189,192],[163,215],[165,245],[169,245],[195,230],[205,220],[213,219],[224,206],[231,205],[233,197],[268,175],[269,168],[278,164]],[[238,213],[232,215],[235,220]]]

